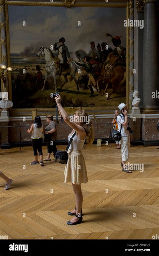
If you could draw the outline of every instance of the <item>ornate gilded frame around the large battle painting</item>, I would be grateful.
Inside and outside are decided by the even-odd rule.
[[[69,2],[69,1],[68,1]],[[71,2],[71,0],[70,0]],[[53,2],[34,2],[34,1],[5,1],[4,3],[4,9],[5,9],[5,32],[6,32],[6,48],[7,48],[7,66],[11,66],[11,60],[10,60],[10,39],[9,39],[9,20],[8,20],[8,6],[9,5],[29,5],[29,6],[65,6],[67,8],[67,4],[65,4],[63,1],[53,1]],[[119,8],[126,8],[126,19],[130,17],[130,7],[132,8],[132,1],[124,1],[123,3],[113,2],[111,1],[107,3],[99,3],[98,1],[85,1],[85,3],[80,3],[76,0],[72,5],[70,5],[69,8],[75,8],[78,7],[119,7]],[[123,17],[124,18],[124,17]],[[130,29],[129,27],[126,27],[126,104],[128,106],[128,109],[131,108],[131,91],[133,89],[133,85],[130,85],[129,83],[129,75],[132,74],[132,66],[130,68],[130,62],[129,62],[129,48],[132,46],[130,45],[129,41],[129,33]],[[9,100],[12,100],[12,94],[11,94],[11,75],[8,76],[8,84],[9,84]],[[112,114],[114,109],[117,109],[118,106],[113,107],[85,107],[85,110],[89,114]],[[66,107],[65,110],[68,114],[73,114],[77,109],[80,107]],[[82,107],[81,107],[82,108]],[[10,109],[11,116],[30,116],[31,115],[31,108],[24,108],[24,109]],[[48,113],[55,113],[55,108],[39,108],[37,109],[37,112],[39,115],[47,115]]]

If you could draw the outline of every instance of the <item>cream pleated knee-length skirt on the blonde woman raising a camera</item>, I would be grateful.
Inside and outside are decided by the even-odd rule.
[[[69,149],[67,153],[68,161],[64,171],[64,182],[71,182],[76,185],[87,183],[87,169],[84,157],[82,155],[82,150]]]

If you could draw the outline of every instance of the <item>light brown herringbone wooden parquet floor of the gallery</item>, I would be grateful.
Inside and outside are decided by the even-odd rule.
[[[131,146],[129,162],[144,164],[143,172],[133,173],[121,170],[120,152],[114,145],[85,146],[89,182],[82,184],[83,222],[68,226],[67,212],[74,209],[75,197],[71,183],[64,183],[65,165],[52,161],[43,167],[30,165],[31,147],[21,152],[19,148],[0,150],[0,170],[13,179],[6,191],[5,181],[0,180],[0,235],[8,239],[152,239],[159,232],[159,150]]]

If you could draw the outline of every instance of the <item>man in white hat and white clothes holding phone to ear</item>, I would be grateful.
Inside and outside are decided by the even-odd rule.
[[[130,148],[130,139],[133,139],[133,137],[129,134],[128,128],[128,120],[127,120],[127,106],[124,103],[120,103],[118,106],[119,110],[121,111],[121,114],[117,116],[117,124],[118,129],[120,131],[121,129],[121,166],[122,170],[128,173],[131,173],[125,163],[128,160],[129,157],[129,148]],[[122,127],[121,127],[122,125]]]

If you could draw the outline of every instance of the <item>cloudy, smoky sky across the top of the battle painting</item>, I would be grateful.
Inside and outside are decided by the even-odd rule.
[[[105,41],[114,49],[106,33],[122,35],[121,45],[126,46],[126,8],[9,6],[8,10],[11,53],[35,53],[42,45],[50,48],[61,37],[69,52],[89,52],[91,41],[95,45]]]

